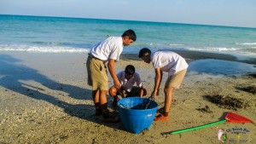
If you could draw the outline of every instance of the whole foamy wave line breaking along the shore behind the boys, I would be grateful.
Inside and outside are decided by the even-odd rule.
[[[129,49],[124,49],[124,54],[138,53],[141,49],[141,45],[131,45]],[[234,54],[234,55],[256,55],[256,49],[254,48],[225,48],[225,47],[159,47],[148,46],[149,49],[182,49],[182,50],[194,50],[194,51],[208,51],[217,52],[222,54]],[[90,47],[73,47],[73,46],[60,46],[60,45],[26,45],[26,44],[0,44],[0,51],[27,51],[38,53],[81,53],[89,52]]]

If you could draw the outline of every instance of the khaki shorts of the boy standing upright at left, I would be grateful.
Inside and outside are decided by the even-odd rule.
[[[102,60],[92,58],[88,55],[86,61],[88,81],[87,84],[92,86],[92,90],[108,90],[108,72],[106,65]]]

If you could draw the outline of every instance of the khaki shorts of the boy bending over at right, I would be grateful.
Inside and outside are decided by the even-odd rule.
[[[187,69],[184,69],[168,77],[165,88],[172,87],[172,88],[178,89],[183,82],[183,78],[185,77],[186,72],[187,72]]]

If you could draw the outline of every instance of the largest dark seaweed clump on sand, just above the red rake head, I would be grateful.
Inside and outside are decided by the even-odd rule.
[[[220,108],[227,108],[232,110],[237,110],[238,108],[250,107],[248,101],[243,99],[238,99],[225,95],[205,95],[204,96],[208,101],[215,103]]]

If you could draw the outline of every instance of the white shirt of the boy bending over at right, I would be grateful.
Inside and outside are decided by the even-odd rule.
[[[189,67],[182,56],[168,50],[154,52],[150,55],[150,60],[154,68],[159,67],[161,71],[168,72],[168,77]]]

